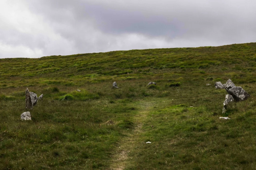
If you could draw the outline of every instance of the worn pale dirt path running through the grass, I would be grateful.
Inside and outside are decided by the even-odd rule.
[[[165,104],[162,100],[164,99],[150,99],[135,103],[138,107],[138,113],[134,116],[134,130],[127,133],[127,136],[121,139],[116,154],[113,156],[111,169],[122,170],[129,166],[129,164],[134,163],[134,158],[129,156],[129,154],[133,153],[137,146],[145,143],[141,139],[141,134],[143,133],[142,126],[148,120],[148,115],[155,108],[158,108],[158,105]]]

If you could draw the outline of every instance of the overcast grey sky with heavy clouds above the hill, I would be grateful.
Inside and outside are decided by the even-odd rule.
[[[0,58],[256,42],[255,0],[0,0]]]

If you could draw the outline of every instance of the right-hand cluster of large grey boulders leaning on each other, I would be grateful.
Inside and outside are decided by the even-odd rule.
[[[225,89],[228,92],[228,95],[226,95],[226,100],[223,103],[222,113],[227,111],[227,105],[230,102],[243,101],[250,97],[250,95],[242,87],[237,87],[230,79],[226,82],[226,84],[216,82],[214,86],[216,89]]]

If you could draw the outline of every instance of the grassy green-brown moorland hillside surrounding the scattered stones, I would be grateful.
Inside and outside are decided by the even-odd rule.
[[[256,43],[0,59],[0,169],[256,169],[255,70]]]

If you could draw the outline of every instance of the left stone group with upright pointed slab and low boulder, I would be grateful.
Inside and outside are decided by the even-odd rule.
[[[41,94],[39,97],[37,97],[37,94],[33,92],[29,92],[28,88],[26,89],[26,110],[32,110],[34,106],[36,105],[37,101],[42,99],[44,97],[43,94]],[[20,115],[21,120],[31,120],[30,112],[24,112]]]

